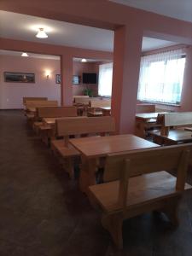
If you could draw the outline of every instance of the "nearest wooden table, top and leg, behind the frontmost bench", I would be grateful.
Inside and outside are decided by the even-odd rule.
[[[142,148],[156,148],[159,145],[150,143],[134,135],[115,135],[108,137],[84,137],[69,140],[74,148],[82,154],[80,172],[80,189],[87,191],[90,185],[96,183],[96,166],[98,160],[105,160],[111,153],[119,153]]]

